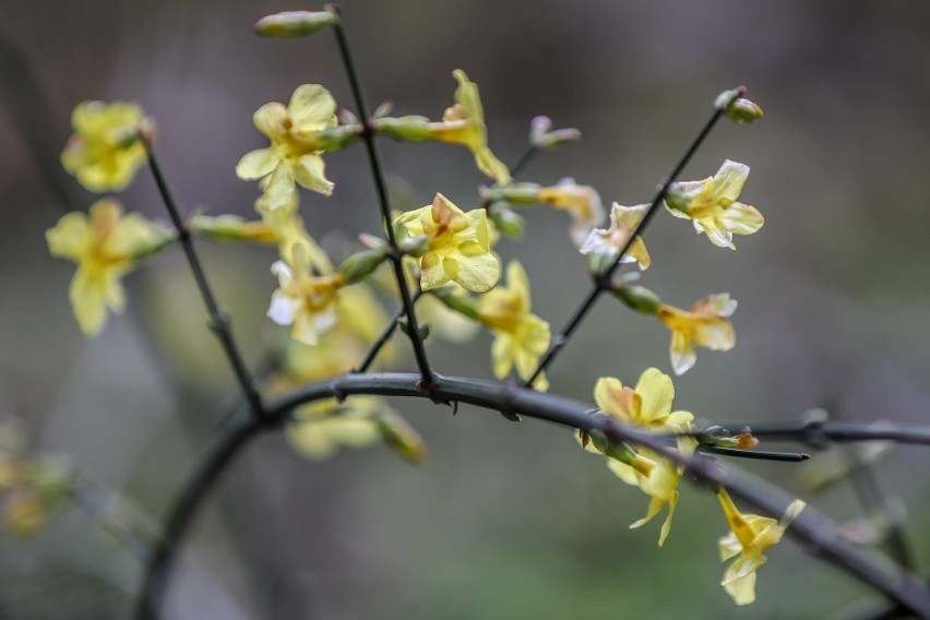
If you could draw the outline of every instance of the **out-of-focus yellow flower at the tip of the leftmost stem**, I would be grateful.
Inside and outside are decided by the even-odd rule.
[[[61,164],[91,191],[121,190],[145,162],[138,139],[145,119],[135,104],[84,102],[74,108],[74,134],[64,145]]]

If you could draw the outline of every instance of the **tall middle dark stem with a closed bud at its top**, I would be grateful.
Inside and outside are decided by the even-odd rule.
[[[327,10],[339,15],[339,9],[336,5],[327,5]],[[404,274],[404,254],[397,247],[397,240],[394,237],[394,228],[391,226],[391,203],[388,198],[388,187],[384,182],[384,174],[381,169],[381,158],[378,155],[378,146],[374,143],[374,132],[368,121],[368,107],[365,104],[365,96],[361,93],[361,82],[358,79],[358,73],[355,63],[351,59],[348,40],[346,38],[345,28],[343,27],[342,17],[336,20],[334,24],[336,32],[336,40],[339,47],[339,55],[345,65],[346,75],[351,87],[355,106],[358,110],[359,118],[365,122],[365,131],[361,134],[365,141],[365,147],[368,152],[368,163],[371,167],[371,176],[374,179],[374,190],[378,194],[378,206],[381,210],[381,219],[384,223],[384,233],[388,237],[388,245],[391,247],[391,264],[394,266],[394,275],[397,279],[397,289],[401,293],[401,301],[404,307],[404,313],[407,317],[407,325],[409,325],[408,336],[410,344],[414,347],[414,357],[417,360],[417,368],[422,377],[424,388],[429,388],[433,382],[432,370],[430,370],[429,361],[426,356],[426,348],[420,335],[419,325],[417,323],[417,314],[414,311],[414,301],[410,297],[410,290],[407,288],[407,278]]]

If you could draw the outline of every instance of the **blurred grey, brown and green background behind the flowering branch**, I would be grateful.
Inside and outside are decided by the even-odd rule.
[[[262,145],[251,114],[317,82],[349,104],[331,34],[251,34],[278,1],[4,0],[0,4],[0,415],[70,454],[90,479],[157,520],[238,392],[180,252],[128,281],[130,308],[86,342],[70,314],[73,266],[44,231],[91,196],[60,171],[73,106],[132,99],[158,121],[158,152],[187,208],[248,215],[255,189],[235,178]],[[312,8],[312,7],[301,7]],[[490,143],[513,162],[529,119],[552,117],[584,140],[539,156],[522,178],[565,176],[605,203],[647,201],[707,116],[737,84],[763,122],[723,123],[685,170],[725,158],[752,167],[743,199],[763,230],[734,253],[687,223],[647,235],[645,284],[681,307],[710,293],[739,302],[738,344],[699,351],[676,381],[678,407],[704,420],[778,420],[814,406],[845,419],[927,421],[930,395],[930,5],[920,0],[652,2],[371,0],[344,3],[368,97],[439,117],[451,72],[481,87]],[[398,204],[442,191],[477,203],[468,153],[384,143]],[[327,156],[332,199],[307,196],[311,231],[345,248],[375,233],[360,147]],[[121,194],[163,216],[143,171]],[[520,258],[535,311],[558,329],[587,287],[562,213],[527,213]],[[264,319],[273,254],[202,245],[208,277],[260,365],[281,333]],[[393,308],[393,306],[391,306]],[[445,373],[489,377],[490,337],[437,346]],[[552,368],[552,390],[591,400],[597,377],[634,382],[669,371],[668,333],[603,300]],[[409,359],[401,367],[413,368]],[[395,402],[424,434],[425,466],[383,448],[311,464],[279,437],[257,442],[198,522],[168,596],[170,618],[844,618],[880,601],[786,541],[760,571],[759,600],[735,608],[718,586],[715,498],[683,484],[672,535],[630,532],[647,498],[620,484],[564,430],[463,407]],[[818,454],[818,456],[821,456]],[[906,504],[918,568],[930,561],[928,453],[895,449],[877,468]],[[824,460],[751,468],[839,521],[861,516],[849,485],[810,493]],[[81,512],[27,541],[0,541],[0,616],[126,618],[140,564]]]

